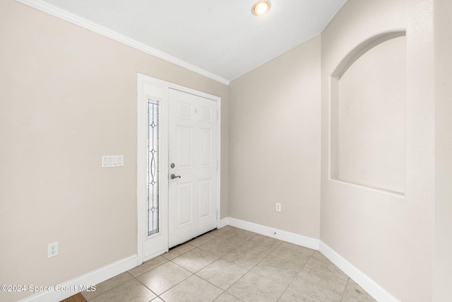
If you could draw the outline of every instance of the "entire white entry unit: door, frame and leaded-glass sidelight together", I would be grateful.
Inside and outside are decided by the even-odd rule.
[[[138,74],[137,102],[141,265],[217,226],[221,99]]]

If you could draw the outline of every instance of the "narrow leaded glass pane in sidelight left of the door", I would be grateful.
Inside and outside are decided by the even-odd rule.
[[[148,100],[148,236],[159,231],[158,100]]]

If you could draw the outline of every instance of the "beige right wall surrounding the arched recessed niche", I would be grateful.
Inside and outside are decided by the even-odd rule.
[[[432,300],[435,193],[432,10],[432,2],[424,0],[348,0],[323,31],[321,41],[321,240],[401,301]],[[328,180],[329,76],[363,41],[404,29],[405,197]]]

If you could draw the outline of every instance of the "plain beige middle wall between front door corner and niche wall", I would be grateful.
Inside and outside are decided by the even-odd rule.
[[[233,218],[319,238],[320,41],[230,83]]]

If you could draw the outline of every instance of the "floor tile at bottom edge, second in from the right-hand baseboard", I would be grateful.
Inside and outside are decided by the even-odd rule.
[[[347,281],[303,267],[290,287],[321,301],[340,301]]]

